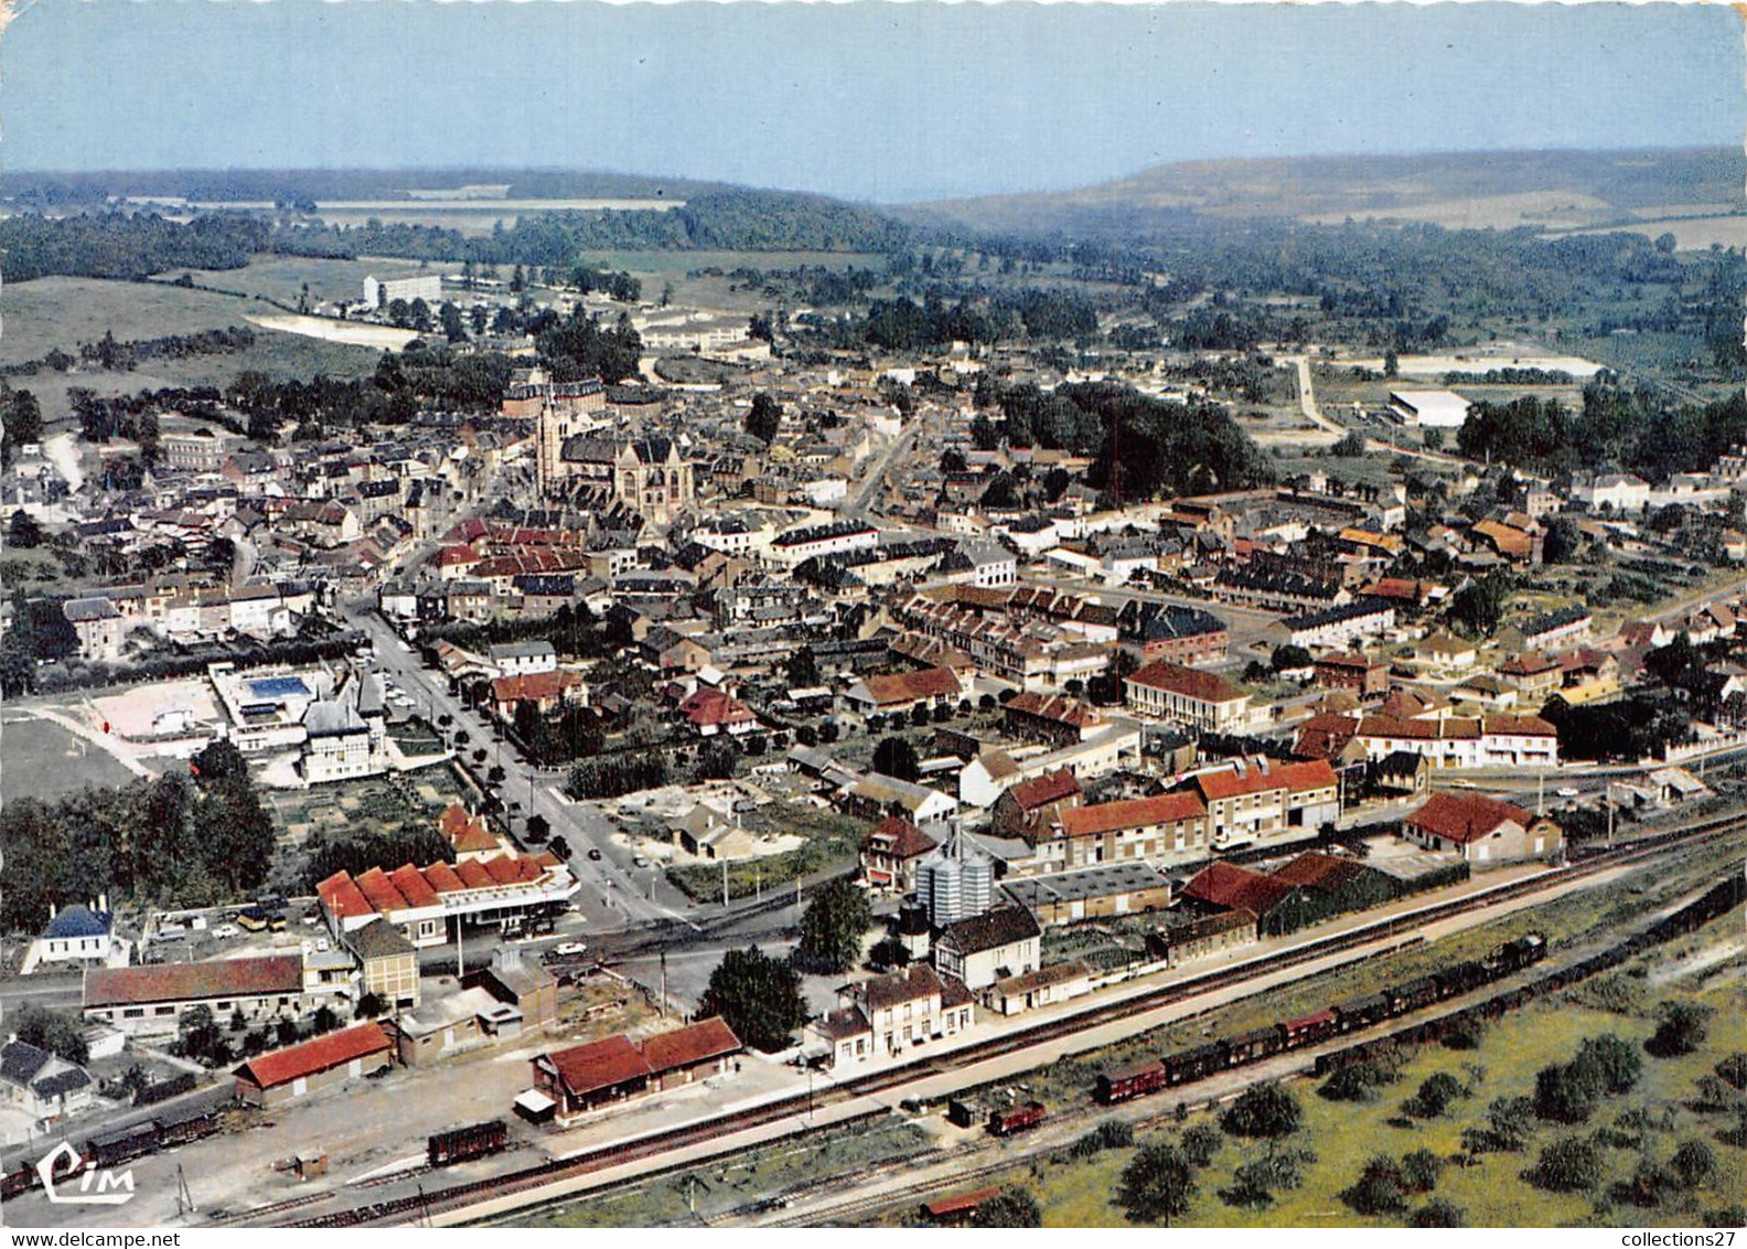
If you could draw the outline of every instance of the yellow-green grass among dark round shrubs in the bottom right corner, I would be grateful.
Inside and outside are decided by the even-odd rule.
[[[1630,1011],[1616,1013],[1585,1004],[1583,987],[1560,999],[1543,1001],[1525,1011],[1508,1015],[1483,1036],[1478,1050],[1466,1053],[1441,1046],[1424,1046],[1401,1069],[1401,1078],[1385,1087],[1371,1104],[1328,1101],[1309,1080],[1289,1085],[1303,1108],[1303,1127],[1289,1141],[1317,1156],[1305,1169],[1305,1183],[1296,1191],[1281,1191],[1265,1207],[1240,1207],[1221,1197],[1232,1172],[1244,1162],[1265,1156],[1263,1144],[1225,1139],[1211,1165],[1198,1176],[1198,1193],[1181,1225],[1188,1226],[1399,1226],[1401,1216],[1361,1216],[1340,1193],[1357,1179],[1359,1170],[1377,1153],[1399,1158],[1413,1149],[1429,1149],[1441,1158],[1460,1153],[1462,1130],[1485,1125],[1487,1106],[1495,1097],[1529,1097],[1536,1073],[1569,1060],[1585,1038],[1612,1032],[1635,1046],[1654,1032],[1653,1008],[1660,1001],[1684,999],[1712,1006],[1707,1041],[1691,1055],[1654,1059],[1644,1055],[1637,1087],[1607,1097],[1586,1125],[1560,1127],[1537,1123],[1522,1153],[1481,1155],[1478,1165],[1448,1165],[1434,1195],[1467,1212],[1471,1226],[1637,1226],[1644,1223],[1693,1225],[1700,1212],[1740,1200],[1747,1183],[1747,1156],[1724,1144],[1717,1134],[1733,1121],[1728,1114],[1700,1113],[1691,1108],[1695,1081],[1712,1071],[1728,1053],[1747,1048],[1742,1022],[1742,985],[1747,963],[1733,959],[1696,975],[1672,975],[1674,961],[1688,949],[1733,936],[1740,915],[1712,924],[1702,938],[1691,938],[1651,954],[1625,975],[1642,985]],[[1642,1050],[1639,1050],[1642,1053]],[[1412,1121],[1401,1116],[1399,1102],[1434,1073],[1459,1080],[1467,1095],[1441,1118]],[[1586,1135],[1614,1125],[1628,1111],[1644,1111],[1653,1127],[1640,1128],[1637,1144],[1609,1142],[1604,1149],[1605,1177],[1590,1193],[1550,1193],[1534,1188],[1520,1172],[1534,1165],[1541,1148],[1560,1135]],[[1188,1125],[1211,1121],[1205,1113],[1190,1116]],[[1141,1142],[1174,1139],[1176,1128],[1153,1128]],[[1691,1197],[1670,1198],[1660,1211],[1616,1205],[1607,1190],[1630,1177],[1639,1158],[1667,1160],[1684,1141],[1703,1141],[1717,1158],[1717,1174]],[[1120,1174],[1134,1149],[1115,1149],[1090,1162],[1071,1162],[1057,1155],[1015,1172],[1010,1183],[1029,1183],[1045,1207],[1048,1226],[1123,1226],[1127,1216],[1115,1204]],[[1410,1198],[1410,1207],[1420,1197]]]

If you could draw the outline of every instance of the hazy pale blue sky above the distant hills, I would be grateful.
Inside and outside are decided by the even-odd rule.
[[[1738,145],[1726,5],[35,0],[10,169],[557,168],[896,203],[1184,159]]]

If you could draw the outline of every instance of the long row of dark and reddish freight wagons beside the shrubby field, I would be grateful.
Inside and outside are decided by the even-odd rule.
[[[1115,1106],[1160,1088],[1195,1083],[1230,1067],[1260,1062],[1288,1050],[1302,1050],[1331,1036],[1371,1027],[1447,997],[1471,992],[1544,957],[1546,938],[1539,933],[1529,933],[1495,947],[1485,957],[1441,968],[1427,976],[1391,985],[1382,992],[1335,1003],[1314,1015],[1286,1018],[1221,1041],[1207,1041],[1122,1071],[1106,1071],[1099,1074],[1092,1095],[1104,1106]]]

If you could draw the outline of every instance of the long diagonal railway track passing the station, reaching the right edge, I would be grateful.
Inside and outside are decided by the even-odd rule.
[[[510,1172],[507,1176],[470,1181],[411,1197],[390,1198],[370,1205],[348,1207],[313,1219],[300,1219],[292,1223],[290,1226],[300,1226],[300,1228],[365,1226],[377,1223],[395,1223],[407,1218],[428,1219],[433,1214],[459,1211],[484,1200],[500,1200],[505,1197],[515,1197],[517,1193],[540,1190],[549,1184],[568,1179],[578,1179],[582,1176],[597,1170],[606,1170],[610,1167],[618,1167],[631,1162],[641,1162],[645,1158],[657,1158],[660,1155],[685,1149],[694,1144],[704,1144],[708,1141],[725,1137],[732,1132],[762,1127],[783,1118],[795,1118],[800,1116],[802,1113],[811,1113],[812,1109],[818,1108],[835,1106],[846,1101],[867,1097],[872,1094],[880,1094],[889,1088],[908,1085],[917,1080],[926,1080],[928,1076],[954,1071],[975,1062],[984,1062],[987,1059],[1005,1057],[1008,1053],[1032,1048],[1036,1045],[1059,1041],[1074,1032],[1083,1032],[1087,1029],[1094,1029],[1102,1024],[1118,1022],[1123,1018],[1130,1018],[1134,1015],[1157,1010],[1160,1006],[1174,1004],[1186,997],[1242,983],[1244,980],[1256,976],[1258,971],[1263,970],[1279,971],[1282,968],[1302,966],[1305,963],[1312,963],[1315,959],[1322,959],[1331,954],[1340,954],[1359,945],[1370,945],[1378,940],[1387,940],[1408,929],[1419,929],[1424,928],[1426,924],[1434,924],[1438,921],[1462,915],[1478,908],[1495,907],[1499,903],[1511,901],[1522,896],[1544,893],[1548,889],[1569,884],[1571,880],[1579,880],[1618,866],[1654,859],[1670,851],[1702,845],[1710,840],[1717,840],[1730,833],[1740,832],[1742,828],[1747,828],[1747,812],[1730,814],[1717,819],[1668,830],[1654,837],[1639,838],[1626,845],[1597,851],[1579,861],[1569,863],[1551,872],[1544,872],[1536,877],[1513,880],[1476,894],[1469,894],[1466,898],[1454,898],[1441,903],[1431,903],[1427,907],[1403,912],[1401,915],[1391,915],[1389,919],[1380,919],[1371,924],[1363,924],[1345,933],[1331,935],[1321,940],[1303,942],[1302,945],[1293,947],[1291,950],[1281,954],[1249,959],[1233,964],[1230,968],[1184,976],[1181,980],[1170,982],[1169,985],[1158,985],[1146,992],[1132,994],[1129,997],[1123,997],[1122,1001],[1113,1001],[1064,1018],[1043,1020],[1031,1027],[1015,1029],[1012,1032],[1006,1032],[999,1038],[991,1038],[989,1041],[982,1041],[978,1045],[963,1046],[949,1053],[905,1064],[901,1067],[872,1073],[868,1076],[854,1080],[846,1080],[811,1097],[805,1094],[798,1094],[795,1097],[779,1102],[770,1102],[767,1106],[742,1111],[739,1114],[722,1116],[704,1123],[692,1123],[687,1127],[671,1128],[667,1132],[657,1132],[641,1137],[638,1141],[603,1146],[601,1149],[594,1149],[573,1158],[547,1160],[543,1163],[536,1163],[533,1167],[526,1167],[522,1170]],[[1424,938],[1413,938],[1413,940],[1424,940]],[[1406,945],[1406,942],[1403,945]],[[872,1118],[880,1113],[884,1113],[884,1109],[870,1109],[865,1114],[853,1114],[847,1118],[840,1118],[835,1120],[832,1125],[828,1125],[828,1128],[804,1127],[795,1135],[805,1137],[821,1130],[835,1130],[844,1127],[846,1123],[861,1121],[863,1118]],[[678,1170],[683,1167],[695,1165],[704,1158],[708,1158],[708,1155],[699,1158],[688,1158],[683,1163],[674,1163],[671,1167],[659,1167],[648,1174]],[[250,1212],[250,1216],[246,1218],[257,1218],[260,1212]]]

